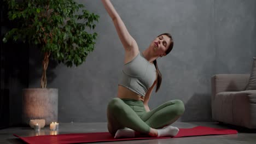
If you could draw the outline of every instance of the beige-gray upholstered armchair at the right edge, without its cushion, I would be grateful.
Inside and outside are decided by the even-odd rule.
[[[249,74],[212,76],[212,119],[256,128],[256,90],[245,91]]]

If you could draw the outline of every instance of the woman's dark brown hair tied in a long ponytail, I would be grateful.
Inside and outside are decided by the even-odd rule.
[[[168,53],[170,53],[170,51],[172,50],[173,48],[173,39],[172,39],[172,35],[170,33],[163,33],[163,34],[160,34],[160,35],[167,35],[167,37],[169,37],[171,39],[171,44],[170,46],[168,47],[168,49],[166,50],[165,54],[168,55]],[[158,37],[160,36],[158,35]],[[155,68],[156,68],[156,74],[158,75],[158,78],[157,78],[157,81],[156,81],[156,89],[155,89],[155,92],[158,92],[160,86],[161,86],[161,82],[162,82],[162,74],[160,73],[159,69],[158,69],[158,63],[156,62],[156,59],[155,61],[153,62],[154,65],[155,65]]]

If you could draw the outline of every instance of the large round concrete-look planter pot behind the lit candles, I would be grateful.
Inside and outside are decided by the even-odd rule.
[[[58,89],[22,89],[22,123],[31,119],[45,119],[45,125],[58,120]]]

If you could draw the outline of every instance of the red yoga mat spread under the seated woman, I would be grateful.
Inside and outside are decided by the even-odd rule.
[[[107,142],[107,141],[124,141],[124,140],[143,140],[143,139],[168,139],[175,137],[184,136],[201,136],[201,135],[228,135],[237,134],[236,130],[232,129],[219,129],[210,127],[194,127],[179,129],[179,133],[174,137],[135,137],[135,138],[124,138],[124,139],[114,139],[108,132],[103,133],[82,133],[82,134],[60,134],[60,135],[40,135],[40,136],[30,136],[30,137],[19,137],[21,140],[27,143],[86,143],[86,142]]]

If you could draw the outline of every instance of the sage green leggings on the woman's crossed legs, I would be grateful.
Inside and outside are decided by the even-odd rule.
[[[181,100],[171,100],[146,112],[143,101],[113,98],[107,108],[108,131],[115,135],[118,129],[130,128],[148,134],[150,128],[163,128],[175,122],[184,112]]]

